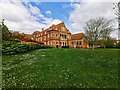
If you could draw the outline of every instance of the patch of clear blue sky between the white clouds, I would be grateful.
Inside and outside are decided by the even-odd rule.
[[[33,6],[37,6],[41,14],[45,17],[53,18],[53,19],[60,19],[63,22],[67,22],[69,13],[73,10],[70,7],[71,2],[30,2]],[[50,11],[51,13],[46,13]]]

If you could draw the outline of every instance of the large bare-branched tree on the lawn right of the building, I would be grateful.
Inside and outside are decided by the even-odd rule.
[[[107,20],[103,17],[90,19],[86,22],[84,27],[85,33],[88,36],[90,45],[92,45],[93,49],[97,40],[102,39],[106,41],[110,37],[112,27],[112,20]]]

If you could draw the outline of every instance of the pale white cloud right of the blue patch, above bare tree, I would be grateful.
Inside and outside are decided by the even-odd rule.
[[[72,32],[84,32],[85,22],[97,17],[114,19],[115,28],[117,28],[117,20],[115,20],[115,11],[113,10],[113,2],[86,2],[72,4],[74,9],[69,16],[68,22],[71,24]]]

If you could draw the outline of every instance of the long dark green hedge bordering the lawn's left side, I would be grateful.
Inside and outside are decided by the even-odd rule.
[[[37,43],[23,43],[19,41],[9,41],[2,44],[2,53],[7,55],[23,53],[35,49],[52,48],[50,46],[44,46]]]

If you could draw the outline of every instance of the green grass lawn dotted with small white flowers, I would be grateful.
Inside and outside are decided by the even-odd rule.
[[[2,86],[117,88],[117,49],[39,49],[3,56]]]

